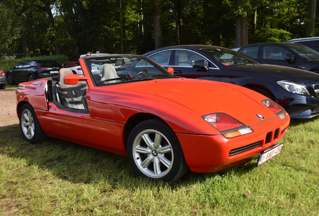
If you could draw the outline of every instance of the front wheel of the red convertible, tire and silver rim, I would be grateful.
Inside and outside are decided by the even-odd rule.
[[[135,173],[152,180],[172,182],[189,169],[175,132],[159,118],[145,120],[133,128],[127,155]]]

